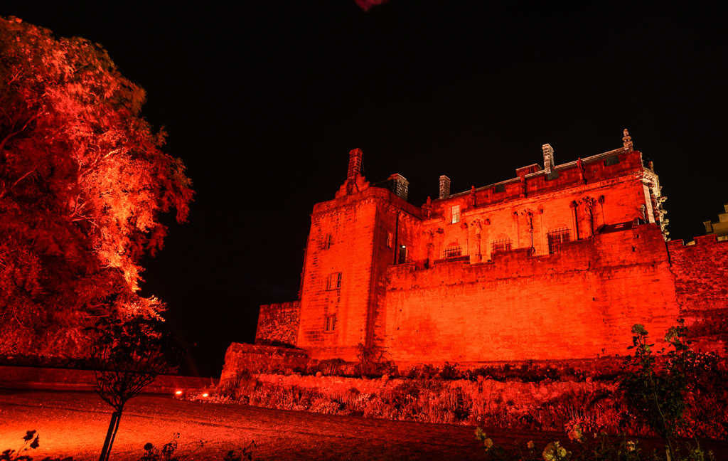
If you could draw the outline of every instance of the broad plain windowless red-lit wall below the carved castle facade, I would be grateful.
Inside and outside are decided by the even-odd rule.
[[[526,249],[494,261],[440,261],[388,272],[384,347],[397,363],[597,358],[625,352],[630,328],[665,331],[678,316],[654,224]]]

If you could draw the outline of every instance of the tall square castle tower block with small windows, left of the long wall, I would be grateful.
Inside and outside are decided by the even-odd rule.
[[[315,358],[355,360],[357,344],[372,344],[387,267],[399,245],[419,237],[409,229],[419,208],[387,189],[361,189],[317,204],[311,216],[297,345]],[[330,277],[339,272],[336,288]],[[327,318],[336,319],[328,331]]]

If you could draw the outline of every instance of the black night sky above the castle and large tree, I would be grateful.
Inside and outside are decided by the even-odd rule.
[[[0,15],[106,47],[148,93],[197,192],[143,293],[192,339],[183,371],[219,377],[253,342],[259,304],[296,299],[313,205],[348,152],[369,181],[400,173],[409,201],[622,145],[654,161],[670,237],[703,234],[728,202],[726,11],[668,2],[391,0],[4,1]],[[672,3],[670,3],[672,5]]]

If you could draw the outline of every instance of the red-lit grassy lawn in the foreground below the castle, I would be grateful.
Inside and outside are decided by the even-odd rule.
[[[25,430],[40,434],[32,456],[98,459],[111,408],[95,393],[0,390],[0,451],[17,449]],[[256,441],[254,460],[484,460],[475,427],[365,419],[222,403],[178,401],[159,395],[133,398],[122,415],[112,460],[138,460],[143,445],[157,447],[180,433],[178,453],[204,446],[189,460],[221,459],[230,449]],[[502,445],[543,447],[566,433],[487,430]],[[644,448],[659,439],[640,438]],[[716,459],[728,459],[728,443],[706,441]]]

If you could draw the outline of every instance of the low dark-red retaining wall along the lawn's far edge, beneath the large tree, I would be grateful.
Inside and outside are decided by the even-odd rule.
[[[219,379],[162,374],[142,390],[143,394],[172,394],[218,385]],[[96,378],[90,370],[0,366],[0,387],[6,389],[93,390]]]

